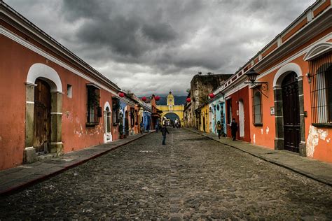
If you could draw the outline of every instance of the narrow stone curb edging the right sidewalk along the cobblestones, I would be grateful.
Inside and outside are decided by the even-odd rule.
[[[331,180],[325,180],[325,179],[322,179],[322,178],[320,178],[320,177],[318,177],[318,176],[315,176],[315,175],[312,174],[312,173],[307,173],[307,172],[302,171],[302,170],[300,170],[300,169],[298,169],[298,168],[296,168],[296,167],[288,166],[288,165],[286,165],[286,164],[282,164],[282,162],[278,162],[278,161],[276,161],[276,160],[269,159],[269,158],[267,158],[267,157],[264,157],[264,156],[262,156],[262,155],[256,154],[256,153],[254,153],[254,152],[249,152],[249,151],[244,150],[244,149],[242,149],[242,148],[238,148],[238,147],[236,147],[235,145],[230,145],[229,143],[224,143],[223,141],[216,140],[215,138],[212,138],[212,137],[210,137],[210,136],[207,136],[206,134],[202,134],[200,131],[195,131],[194,129],[189,129],[189,128],[184,128],[184,129],[186,129],[186,130],[188,130],[188,131],[191,131],[191,132],[193,132],[193,133],[196,133],[196,134],[200,134],[200,135],[205,136],[205,137],[207,137],[207,138],[210,138],[210,139],[212,139],[212,140],[214,140],[214,141],[216,141],[216,142],[223,143],[224,145],[228,145],[228,146],[230,146],[230,147],[232,147],[232,148],[235,148],[235,149],[237,149],[237,150],[241,150],[242,152],[246,152],[247,154],[249,154],[249,155],[251,155],[251,156],[257,157],[257,158],[259,158],[259,159],[263,159],[265,162],[270,162],[270,163],[275,164],[275,165],[277,165],[277,166],[282,166],[282,167],[284,167],[284,168],[286,168],[286,169],[289,169],[289,170],[294,171],[294,172],[296,172],[296,173],[299,173],[299,174],[301,174],[301,175],[303,175],[303,176],[306,176],[307,178],[310,178],[310,179],[312,179],[312,180],[316,180],[316,181],[318,181],[318,182],[320,182],[320,183],[324,183],[325,185],[332,186],[332,181],[331,181]],[[240,141],[240,142],[242,142],[242,141]],[[251,143],[251,145],[253,145],[253,144]]]

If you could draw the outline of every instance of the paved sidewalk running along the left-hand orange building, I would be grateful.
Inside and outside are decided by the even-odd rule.
[[[10,194],[15,190],[20,190],[41,180],[45,180],[50,176],[55,176],[57,173],[83,164],[90,159],[104,155],[106,152],[115,150],[122,145],[136,141],[153,132],[154,130],[151,130],[146,134],[137,134],[111,143],[104,143],[102,145],[95,145],[90,148],[69,152],[61,157],[44,159],[43,161],[23,164],[0,171],[0,195]]]

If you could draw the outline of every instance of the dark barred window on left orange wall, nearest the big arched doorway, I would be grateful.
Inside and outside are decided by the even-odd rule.
[[[102,117],[102,107],[99,107],[99,88],[95,85],[87,85],[88,104],[87,104],[87,126],[95,126]]]

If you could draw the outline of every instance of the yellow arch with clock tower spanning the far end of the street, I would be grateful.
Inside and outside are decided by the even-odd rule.
[[[158,110],[162,111],[162,119],[166,117],[170,120],[178,119],[184,125],[184,104],[175,105],[174,95],[170,92],[167,95],[167,105],[158,105]]]

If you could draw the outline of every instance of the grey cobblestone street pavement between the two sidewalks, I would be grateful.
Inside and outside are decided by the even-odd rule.
[[[332,188],[184,129],[0,199],[0,220],[331,220]]]

